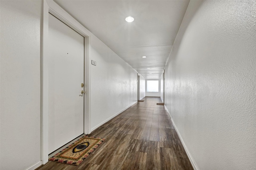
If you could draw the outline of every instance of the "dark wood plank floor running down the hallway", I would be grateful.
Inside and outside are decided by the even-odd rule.
[[[90,136],[105,141],[79,166],[49,161],[38,170],[192,170],[159,97],[146,97]]]

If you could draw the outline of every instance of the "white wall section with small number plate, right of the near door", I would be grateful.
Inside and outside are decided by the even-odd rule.
[[[137,101],[137,72],[102,41],[92,35],[89,46],[91,67],[91,129],[95,129]]]

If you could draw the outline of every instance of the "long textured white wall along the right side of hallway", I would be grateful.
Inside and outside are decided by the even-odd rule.
[[[190,1],[165,104],[199,170],[256,169],[256,1]]]

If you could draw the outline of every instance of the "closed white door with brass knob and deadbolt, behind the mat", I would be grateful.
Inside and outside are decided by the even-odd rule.
[[[48,153],[84,133],[84,37],[49,13]]]

